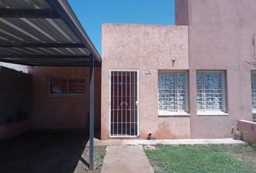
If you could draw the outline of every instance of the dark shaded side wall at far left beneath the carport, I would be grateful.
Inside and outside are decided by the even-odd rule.
[[[30,128],[31,76],[0,66],[0,140]]]

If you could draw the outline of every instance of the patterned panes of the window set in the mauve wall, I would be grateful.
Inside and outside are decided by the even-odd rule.
[[[225,111],[223,71],[197,71],[197,110]]]

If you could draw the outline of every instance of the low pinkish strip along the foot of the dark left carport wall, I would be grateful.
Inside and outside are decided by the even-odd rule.
[[[30,120],[0,125],[0,141],[13,138],[30,129]]]

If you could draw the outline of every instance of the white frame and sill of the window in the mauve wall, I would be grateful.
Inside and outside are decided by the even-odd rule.
[[[226,112],[226,71],[213,71],[213,70],[205,70],[205,71],[197,71],[196,72],[196,83],[197,83],[197,74],[202,73],[202,86],[203,89],[205,89],[204,83],[205,83],[205,74],[211,74],[211,73],[218,73],[221,74],[221,94],[222,94],[222,109],[221,110],[206,110],[205,108],[203,110],[197,109],[197,115],[229,115]],[[196,86],[197,89],[197,86]],[[205,92],[203,92],[204,99],[205,99]],[[205,103],[204,103],[205,107]]]

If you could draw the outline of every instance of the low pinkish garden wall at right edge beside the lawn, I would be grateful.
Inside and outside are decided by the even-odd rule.
[[[256,144],[256,123],[238,120],[238,130],[242,132],[242,140]]]

